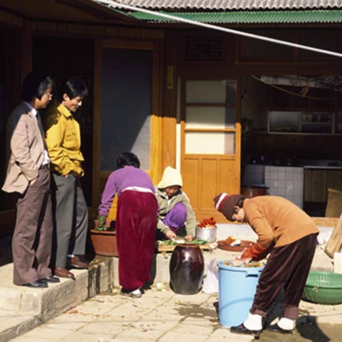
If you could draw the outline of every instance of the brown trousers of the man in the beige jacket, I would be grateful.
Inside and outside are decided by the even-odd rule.
[[[36,182],[17,201],[12,238],[13,283],[24,285],[51,276],[52,244],[50,171],[39,170]]]

